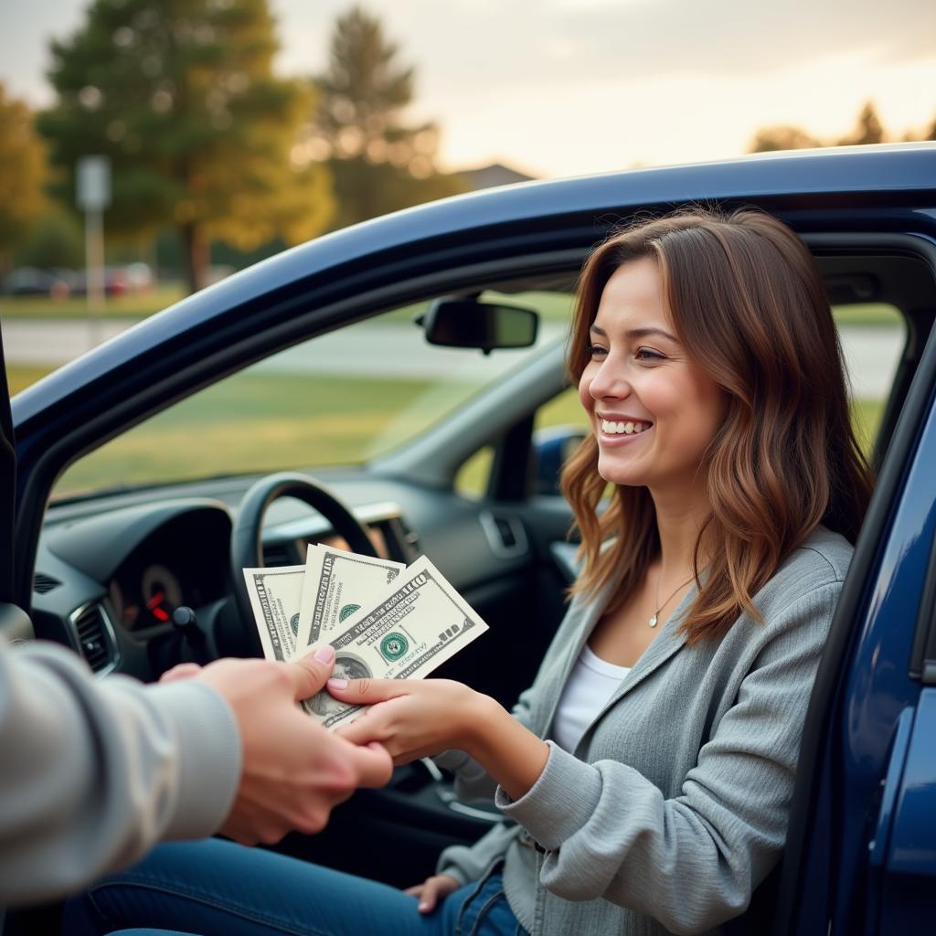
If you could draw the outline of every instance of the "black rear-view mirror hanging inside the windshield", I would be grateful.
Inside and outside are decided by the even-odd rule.
[[[477,348],[490,354],[495,348],[526,348],[536,341],[539,315],[533,309],[472,298],[443,298],[432,302],[417,325],[429,344]]]

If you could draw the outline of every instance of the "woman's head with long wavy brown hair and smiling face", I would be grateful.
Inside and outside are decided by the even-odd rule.
[[[583,272],[570,348],[595,423],[565,476],[583,531],[578,592],[621,567],[611,607],[633,591],[660,548],[654,502],[674,485],[680,503],[694,492],[699,529],[691,640],[759,616],[753,594],[818,523],[854,541],[870,474],[838,335],[812,256],[779,221],[684,212],[610,238]],[[600,425],[624,408],[657,422],[626,448]]]

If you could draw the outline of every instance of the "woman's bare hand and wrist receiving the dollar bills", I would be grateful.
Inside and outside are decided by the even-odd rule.
[[[327,686],[342,702],[371,707],[338,734],[355,744],[379,742],[394,764],[457,748],[485,768],[512,799],[522,797],[546,766],[546,741],[489,695],[461,682],[331,679]]]

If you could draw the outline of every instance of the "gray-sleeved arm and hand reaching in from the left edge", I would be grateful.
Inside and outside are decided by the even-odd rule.
[[[0,640],[0,906],[65,896],[161,840],[312,831],[359,784],[386,782],[386,752],[297,708],[330,671],[225,660],[144,686]]]

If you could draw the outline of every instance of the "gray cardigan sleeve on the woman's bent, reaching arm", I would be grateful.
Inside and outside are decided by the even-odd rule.
[[[542,884],[564,899],[649,914],[675,933],[742,913],[785,841],[802,726],[840,591],[841,582],[822,586],[783,614],[679,797],[665,799],[618,761],[586,764],[551,742],[525,796],[511,801],[498,789],[497,805],[546,849]]]

